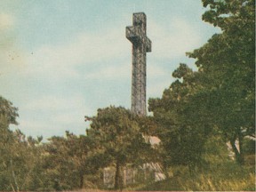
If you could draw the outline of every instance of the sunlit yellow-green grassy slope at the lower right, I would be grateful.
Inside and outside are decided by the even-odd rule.
[[[175,191],[255,191],[254,166],[222,164],[210,170],[189,174],[186,167],[175,167],[167,180],[149,184],[137,190]],[[177,170],[182,170],[177,173]]]

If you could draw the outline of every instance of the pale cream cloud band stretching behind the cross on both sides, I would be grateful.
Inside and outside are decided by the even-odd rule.
[[[201,43],[196,28],[180,18],[167,22],[166,28],[151,21],[148,32],[153,42],[151,57],[154,60],[177,59]],[[48,78],[55,80],[81,76],[85,76],[85,79],[128,77],[130,74],[127,70],[130,70],[132,62],[131,48],[132,44],[124,37],[124,28],[96,34],[76,34],[70,37],[69,42],[45,44],[28,53],[25,75],[47,74]],[[163,73],[161,67],[157,70]],[[148,67],[148,73],[152,71]],[[154,74],[156,70],[151,75]]]

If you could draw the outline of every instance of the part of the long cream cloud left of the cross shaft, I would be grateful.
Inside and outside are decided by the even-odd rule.
[[[99,75],[113,77],[116,68],[122,72],[118,76],[122,76],[126,68],[124,61],[122,64],[116,63],[116,60],[124,60],[130,48],[123,35],[123,31],[118,29],[100,34],[84,32],[72,36],[70,42],[46,44],[28,54],[24,75],[45,75],[55,80],[81,76],[94,78]]]

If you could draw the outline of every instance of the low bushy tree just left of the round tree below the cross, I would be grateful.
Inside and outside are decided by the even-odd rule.
[[[98,170],[92,151],[94,142],[87,136],[70,132],[66,132],[66,137],[54,136],[49,140],[43,161],[46,186],[55,190],[83,188],[84,177]]]

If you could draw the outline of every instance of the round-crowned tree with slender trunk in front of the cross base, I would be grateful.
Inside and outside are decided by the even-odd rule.
[[[122,107],[100,108],[97,116],[89,118],[92,123],[87,130],[88,136],[108,159],[106,165],[116,166],[115,188],[123,188],[122,167],[147,161],[143,154],[151,148],[143,138],[136,118],[130,110]]]

